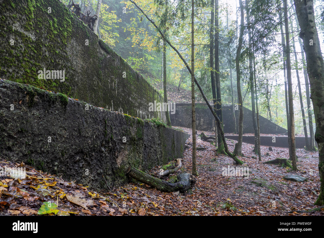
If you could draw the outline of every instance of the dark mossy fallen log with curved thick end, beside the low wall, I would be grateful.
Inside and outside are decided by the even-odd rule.
[[[168,183],[167,181],[146,174],[145,172],[136,169],[133,166],[128,167],[126,175],[162,192],[180,191],[181,193],[184,193],[188,189],[191,189],[191,187],[196,183],[194,176],[189,173],[181,173],[178,175],[178,182]]]

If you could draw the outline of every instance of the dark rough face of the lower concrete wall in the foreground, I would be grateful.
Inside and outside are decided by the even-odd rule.
[[[152,120],[86,110],[85,102],[63,94],[0,80],[0,159],[94,189],[106,187],[102,175],[110,185],[125,183],[129,165],[146,170],[181,157],[187,138]]]

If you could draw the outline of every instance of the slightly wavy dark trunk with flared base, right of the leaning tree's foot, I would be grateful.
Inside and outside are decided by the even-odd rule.
[[[241,10],[241,25],[240,25],[240,36],[238,38],[238,46],[235,57],[236,64],[236,83],[237,83],[237,96],[238,96],[238,104],[239,104],[239,119],[238,119],[238,141],[235,144],[234,154],[242,155],[242,139],[243,139],[243,100],[241,93],[241,81],[240,81],[240,64],[239,58],[242,50],[242,41],[243,41],[243,31],[244,31],[244,8],[242,0],[239,0],[240,10]]]

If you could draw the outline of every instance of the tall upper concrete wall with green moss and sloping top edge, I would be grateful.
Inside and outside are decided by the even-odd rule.
[[[162,101],[156,89],[59,0],[0,0],[0,12],[0,78],[165,121],[148,111]],[[65,70],[65,81],[39,79],[44,68]]]

